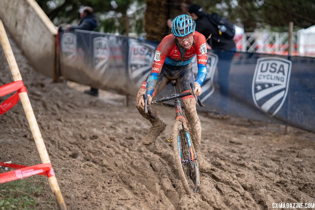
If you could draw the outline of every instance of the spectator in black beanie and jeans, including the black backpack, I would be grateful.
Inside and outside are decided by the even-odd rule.
[[[229,20],[219,14],[203,12],[199,4],[190,5],[187,14],[192,16],[196,22],[196,31],[208,39],[207,43],[218,55],[218,84],[221,94],[219,106],[223,113],[227,114],[228,77],[232,58],[236,51],[233,40],[235,27]]]

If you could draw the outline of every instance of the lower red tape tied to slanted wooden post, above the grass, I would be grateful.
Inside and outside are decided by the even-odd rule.
[[[51,163],[43,163],[35,166],[24,166],[0,162],[0,166],[17,169],[14,171],[0,173],[0,184],[17,179],[23,179],[33,175],[44,175],[47,177],[52,177],[55,175]]]

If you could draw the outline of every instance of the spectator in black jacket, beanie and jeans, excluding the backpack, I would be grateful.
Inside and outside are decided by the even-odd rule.
[[[206,39],[210,36],[207,43],[218,55],[218,84],[220,86],[221,99],[219,102],[220,109],[227,114],[227,98],[229,83],[228,77],[231,68],[231,61],[236,51],[236,45],[233,39],[227,39],[219,34],[218,27],[212,24],[207,13],[202,11],[199,4],[192,4],[188,8],[188,15],[196,22],[196,31],[203,34]]]

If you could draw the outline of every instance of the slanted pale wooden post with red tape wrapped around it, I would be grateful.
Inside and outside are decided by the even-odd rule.
[[[4,26],[1,20],[0,20],[0,41],[1,41],[4,53],[5,53],[5,56],[8,60],[14,81],[22,80],[20,70],[14,58],[14,54],[12,52],[9,39],[4,30]],[[40,133],[40,130],[39,130],[39,127],[38,127],[38,124],[34,115],[34,111],[31,106],[30,99],[28,98],[28,95],[26,92],[19,93],[19,96],[23,105],[23,109],[26,114],[27,121],[30,125],[31,132],[34,137],[39,156],[43,163],[50,163],[48,152],[46,150],[46,146],[44,144],[42,134]],[[54,196],[56,198],[58,208],[67,209],[65,201],[63,200],[63,197],[61,195],[56,177],[55,176],[49,177],[48,180],[49,180],[50,188],[53,191]]]

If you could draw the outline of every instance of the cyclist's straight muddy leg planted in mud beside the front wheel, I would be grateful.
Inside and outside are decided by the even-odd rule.
[[[201,172],[209,172],[211,165],[205,160],[200,150],[200,139],[201,139],[201,123],[196,111],[196,99],[187,98],[183,99],[186,106],[185,115],[188,121],[188,128],[192,138],[192,144],[197,153],[197,160],[199,163],[199,170]]]

